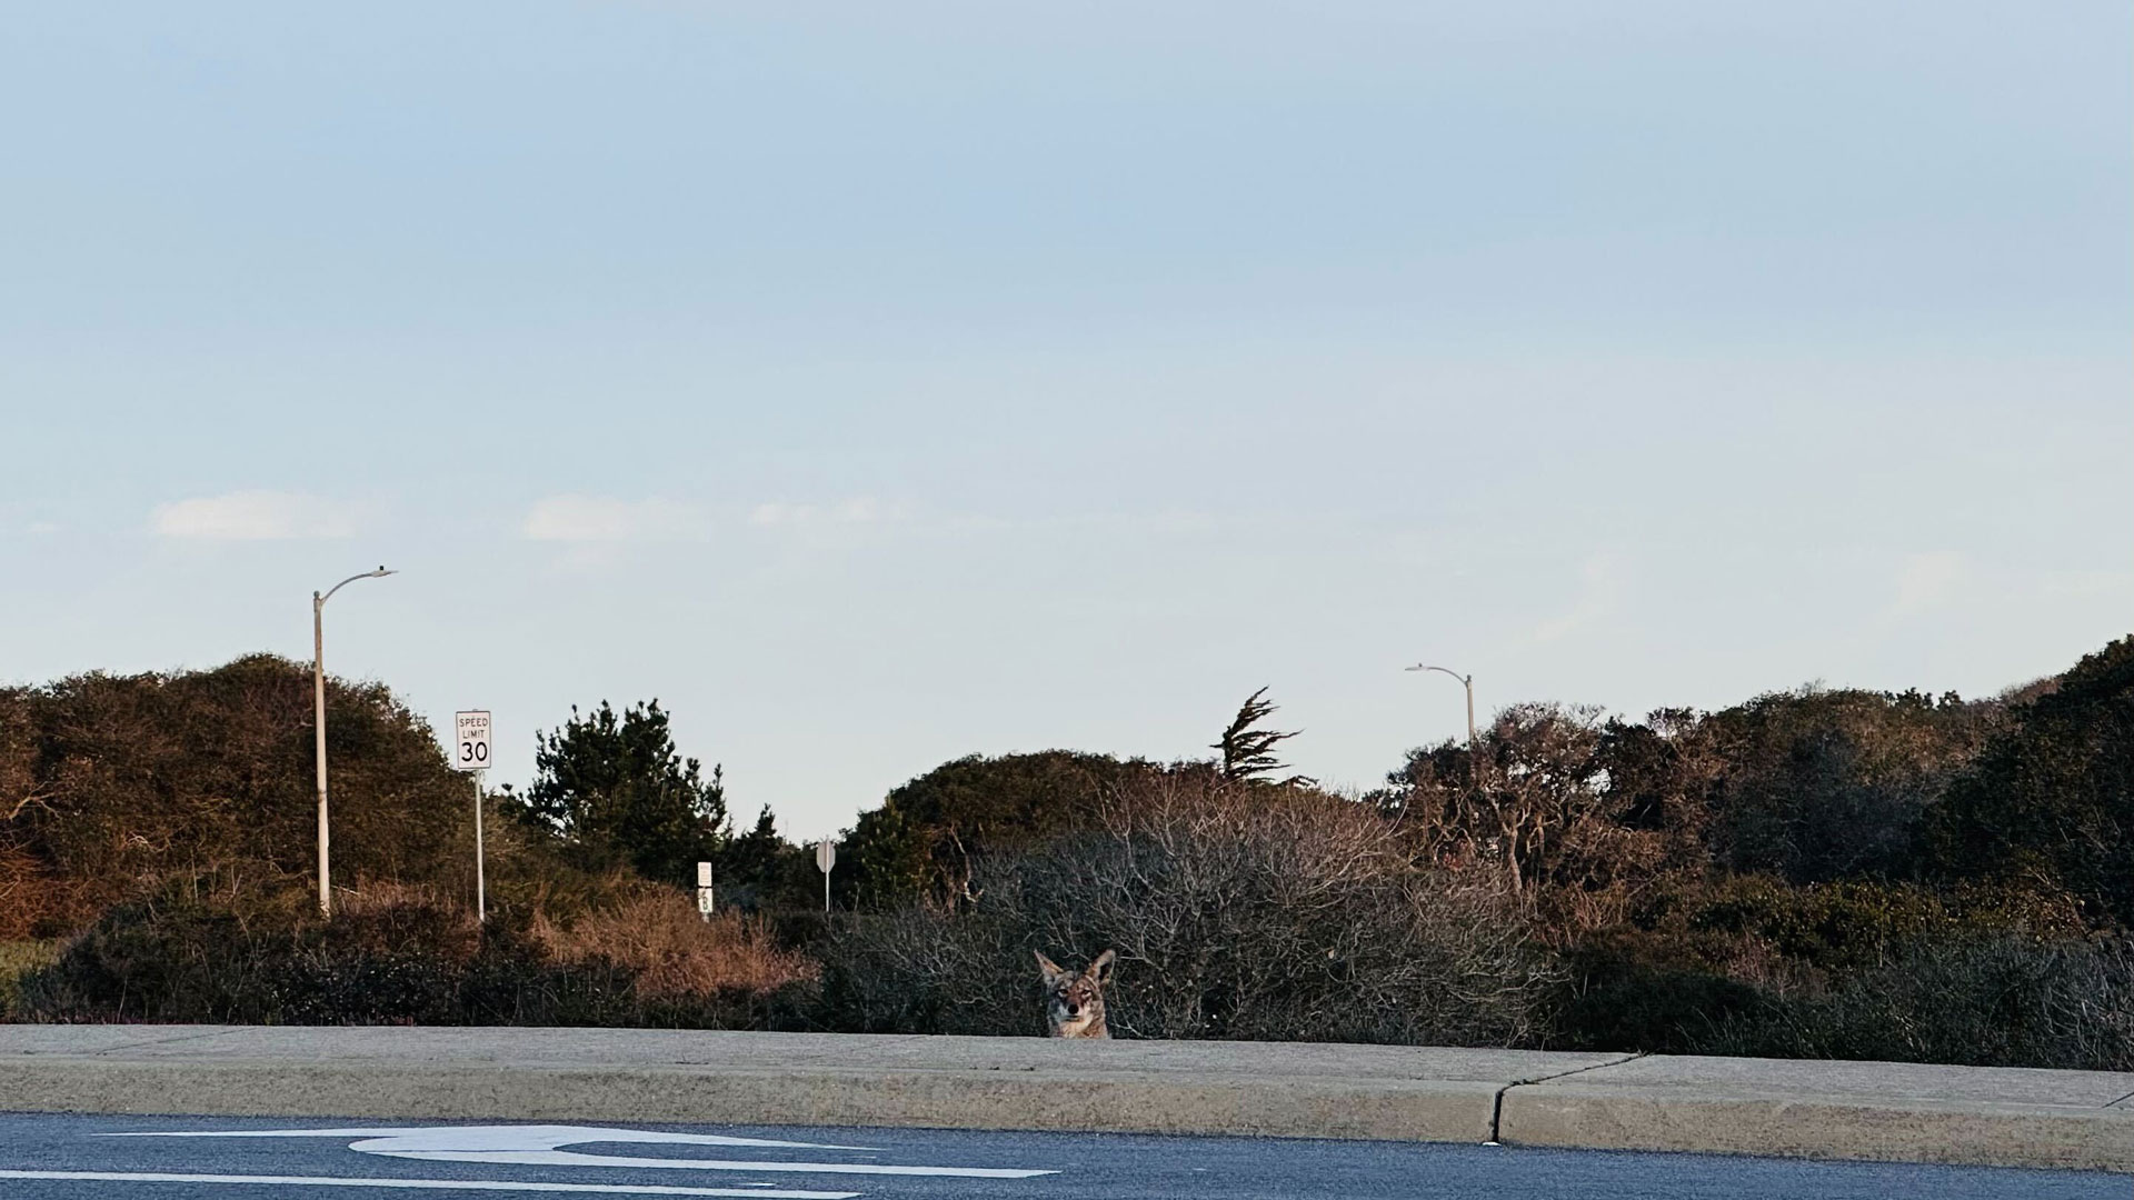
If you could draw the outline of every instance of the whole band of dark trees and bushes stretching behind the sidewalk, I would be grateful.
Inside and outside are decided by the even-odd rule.
[[[467,781],[384,685],[329,688],[337,878],[472,893]],[[1989,698],[1801,688],[1641,720],[1513,705],[1357,794],[1289,771],[1274,715],[1255,692],[1180,762],[943,762],[843,833],[824,922],[811,858],[768,807],[736,824],[723,771],[674,745],[657,700],[572,709],[538,735],[534,781],[489,799],[493,897],[516,914],[493,929],[544,948],[525,978],[555,1001],[521,1008],[551,1019],[1020,1031],[1026,950],[1103,942],[1122,948],[1118,1023],[1142,1036],[2134,1063],[2134,638]],[[0,690],[0,942],[73,937],[94,959],[77,991],[141,995],[141,929],[179,899],[224,914],[186,929],[307,920],[312,803],[305,664]],[[687,912],[627,880],[681,888],[698,860],[766,922],[732,933],[770,940],[749,978],[807,1004],[572,991],[600,954],[653,954],[627,950],[617,912]],[[570,942],[572,914],[608,914],[608,933]],[[352,937],[288,946],[309,963]],[[393,937],[363,954],[391,959]],[[463,999],[423,1012],[514,1010],[465,999],[499,995],[497,976],[455,954]],[[363,963],[350,978],[391,976]]]

